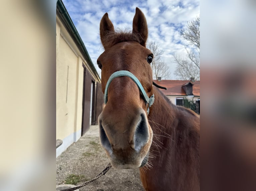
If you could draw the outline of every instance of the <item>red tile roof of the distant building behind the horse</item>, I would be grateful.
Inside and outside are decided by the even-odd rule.
[[[160,89],[164,95],[186,95],[182,86],[189,80],[153,80],[157,85],[167,88],[167,90]],[[200,96],[200,81],[191,82],[193,86],[193,95]]]

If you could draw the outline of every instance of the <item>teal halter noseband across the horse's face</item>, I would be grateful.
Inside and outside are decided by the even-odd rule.
[[[143,98],[144,98],[144,101],[146,103],[146,106],[148,104],[148,108],[147,108],[147,114],[148,114],[149,113],[149,107],[151,107],[151,105],[154,103],[154,99],[155,99],[154,98],[154,94],[149,98],[147,93],[145,92],[144,88],[142,87],[140,81],[136,78],[136,76],[134,76],[132,73],[130,73],[129,71],[126,71],[126,70],[121,70],[121,71],[114,72],[109,77],[107,85],[106,85],[106,88],[105,88],[105,94],[104,94],[104,102],[105,102],[105,104],[107,104],[107,101],[108,101],[108,88],[109,88],[110,83],[112,82],[112,80],[114,80],[115,78],[120,77],[120,76],[127,76],[127,77],[129,77],[138,86],[140,92],[143,95]]]

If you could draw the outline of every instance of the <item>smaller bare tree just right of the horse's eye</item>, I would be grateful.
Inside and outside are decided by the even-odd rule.
[[[169,71],[169,68],[165,64],[165,62],[161,60],[161,56],[164,52],[162,50],[160,50],[158,45],[153,41],[149,41],[147,43],[147,48],[154,55],[153,61],[151,63],[153,79],[157,80],[158,77],[161,77],[161,79],[170,78],[171,73]]]

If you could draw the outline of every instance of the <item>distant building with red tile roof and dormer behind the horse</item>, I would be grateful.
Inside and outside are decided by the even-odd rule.
[[[193,99],[196,102],[197,113],[200,114],[200,81],[195,81],[193,78],[190,80],[153,80],[159,86],[167,88],[162,90],[173,104],[184,104],[184,97]]]

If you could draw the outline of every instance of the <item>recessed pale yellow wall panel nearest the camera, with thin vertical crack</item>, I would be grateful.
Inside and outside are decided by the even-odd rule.
[[[59,139],[73,133],[76,128],[77,63],[76,54],[60,36],[56,63],[56,138]]]

